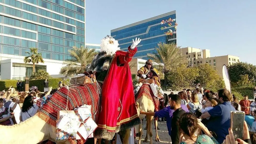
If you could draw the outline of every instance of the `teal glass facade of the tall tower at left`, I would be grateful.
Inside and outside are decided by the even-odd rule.
[[[37,47],[45,59],[69,59],[73,46],[85,47],[84,16],[84,0],[0,0],[0,53]]]

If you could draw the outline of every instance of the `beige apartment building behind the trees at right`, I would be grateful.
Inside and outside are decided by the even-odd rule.
[[[240,61],[239,57],[232,55],[211,57],[210,50],[207,49],[201,50],[192,47],[184,47],[180,49],[180,52],[183,55],[187,55],[190,66],[199,66],[200,64],[208,63],[219,72],[220,76],[222,76],[223,65],[228,66]]]

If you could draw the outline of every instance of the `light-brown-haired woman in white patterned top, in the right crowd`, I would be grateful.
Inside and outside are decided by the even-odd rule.
[[[201,108],[203,107],[202,104],[199,102],[199,98],[197,93],[193,92],[190,97],[190,101],[187,105],[189,111],[193,114],[196,113],[196,111],[201,111]]]

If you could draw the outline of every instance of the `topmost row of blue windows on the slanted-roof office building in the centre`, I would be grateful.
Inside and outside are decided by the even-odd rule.
[[[169,16],[166,16],[166,17],[163,17],[163,18],[159,18],[159,19],[156,19],[156,20],[145,22],[145,23],[142,23],[142,24],[139,24],[139,25],[136,25],[136,26],[132,26],[132,27],[129,27],[129,28],[121,29],[121,30],[118,30],[118,31],[115,31],[115,32],[111,33],[111,35],[119,35],[119,34],[123,34],[123,33],[129,32],[129,31],[132,31],[132,30],[148,27],[150,25],[160,23],[162,20],[166,20],[166,19],[168,20],[169,18],[175,19],[176,14],[172,14],[172,15],[169,15]]]

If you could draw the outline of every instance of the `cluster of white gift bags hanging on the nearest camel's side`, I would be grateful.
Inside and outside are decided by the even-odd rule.
[[[97,124],[92,119],[91,105],[83,105],[74,110],[60,110],[57,113],[56,140],[93,137]]]

